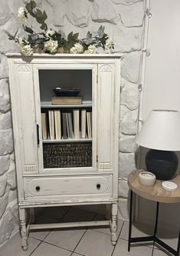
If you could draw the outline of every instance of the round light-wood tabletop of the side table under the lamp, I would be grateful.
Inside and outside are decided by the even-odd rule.
[[[180,175],[176,175],[171,181],[178,185],[176,191],[166,191],[162,188],[162,181],[155,180],[155,185],[145,186],[139,183],[139,172],[145,171],[139,169],[132,172],[128,177],[129,188],[139,194],[142,198],[162,203],[178,203],[180,202]]]

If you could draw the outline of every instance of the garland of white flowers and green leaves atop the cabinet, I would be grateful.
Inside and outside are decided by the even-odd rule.
[[[31,0],[24,7],[18,9],[18,19],[21,22],[28,21],[28,15],[31,15],[40,24],[41,32],[34,32],[32,28],[23,24],[27,37],[16,37],[8,33],[8,38],[18,43],[21,54],[31,56],[34,52],[45,52],[50,54],[70,52],[70,53],[97,53],[98,48],[103,50],[113,48],[112,39],[105,34],[104,26],[100,26],[97,33],[93,35],[87,32],[86,38],[78,39],[79,33],[70,32],[67,38],[52,28],[47,28],[46,12],[41,12],[37,8],[36,2]]]

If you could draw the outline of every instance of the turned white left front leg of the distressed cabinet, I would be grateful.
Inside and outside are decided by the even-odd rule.
[[[21,224],[21,247],[24,251],[28,250],[28,232],[26,228],[25,209],[19,209],[19,219]]]

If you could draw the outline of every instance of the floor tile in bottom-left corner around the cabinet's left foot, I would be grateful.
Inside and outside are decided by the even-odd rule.
[[[38,244],[40,243],[41,241],[38,241],[37,239],[28,238],[28,250],[23,251],[21,248],[21,237],[20,234],[17,233],[0,248],[0,255],[28,256],[32,251],[34,251],[35,248],[37,248]]]

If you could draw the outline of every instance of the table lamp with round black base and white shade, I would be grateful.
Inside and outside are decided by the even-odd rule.
[[[150,148],[146,154],[146,169],[159,180],[170,180],[178,168],[180,151],[180,112],[152,110],[142,125],[136,143]]]

